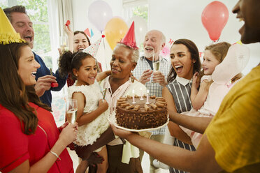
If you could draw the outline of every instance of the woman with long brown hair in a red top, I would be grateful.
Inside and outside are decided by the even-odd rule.
[[[73,172],[66,146],[76,139],[77,124],[65,123],[60,132],[39,100],[40,65],[30,47],[0,44],[0,64],[0,172]]]

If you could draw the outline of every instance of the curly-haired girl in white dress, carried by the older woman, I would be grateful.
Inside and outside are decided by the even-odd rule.
[[[108,103],[103,99],[101,88],[97,81],[102,80],[98,74],[96,59],[85,52],[65,52],[59,59],[61,74],[70,72],[76,78],[73,86],[68,87],[68,98],[78,100],[78,139],[74,142],[78,146],[87,146],[96,142],[108,127]],[[101,75],[106,75],[99,73]],[[106,76],[105,76],[106,77]],[[104,161],[98,164],[97,172],[108,169],[108,154],[106,145],[96,150]],[[85,172],[87,160],[82,160],[76,172]]]

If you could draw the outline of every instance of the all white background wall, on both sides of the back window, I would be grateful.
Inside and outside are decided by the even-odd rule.
[[[93,2],[85,0],[73,1],[73,23],[74,30],[85,30],[87,27],[94,29],[94,26],[89,23],[87,18],[88,6]],[[113,10],[114,16],[122,16],[122,0],[104,0]],[[198,49],[203,52],[205,45],[212,43],[207,31],[201,22],[201,13],[205,6],[213,0],[150,0],[150,16],[148,22],[148,30],[159,29],[164,32],[167,40],[169,38],[177,40],[178,38],[188,38],[193,40],[198,46]],[[232,13],[232,8],[237,0],[222,1],[229,9],[229,20],[222,31],[219,42],[226,41],[236,43],[240,40],[238,29],[243,25],[243,22],[238,22],[236,15]],[[92,40],[100,38],[98,32]],[[257,66],[260,61],[259,43],[247,45],[251,50],[250,62],[243,73],[248,73],[251,68]]]

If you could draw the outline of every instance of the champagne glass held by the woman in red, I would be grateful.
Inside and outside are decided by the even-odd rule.
[[[68,99],[66,103],[66,119],[68,123],[75,123],[77,119],[78,101]]]

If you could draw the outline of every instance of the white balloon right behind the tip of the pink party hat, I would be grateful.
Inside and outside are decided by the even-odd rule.
[[[136,44],[138,47],[145,39],[145,34],[147,33],[147,22],[140,16],[133,16],[127,21],[127,25],[130,27],[134,21],[134,32],[136,35]]]

